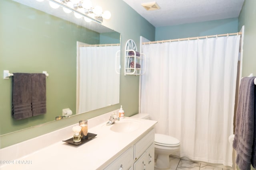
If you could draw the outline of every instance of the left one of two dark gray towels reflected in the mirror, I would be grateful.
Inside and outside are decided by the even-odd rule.
[[[32,117],[31,74],[13,73],[12,107],[15,120]]]

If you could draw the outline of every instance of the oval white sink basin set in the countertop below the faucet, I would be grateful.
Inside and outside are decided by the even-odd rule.
[[[120,121],[116,121],[116,123],[111,126],[111,131],[118,133],[128,133],[138,129],[140,127],[140,121],[121,119]]]

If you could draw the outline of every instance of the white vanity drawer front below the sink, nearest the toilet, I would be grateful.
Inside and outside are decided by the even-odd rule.
[[[146,134],[140,141],[138,141],[134,145],[134,160],[137,160],[144,152],[145,150],[154,143],[155,140],[155,133],[154,129],[152,129],[148,134]]]

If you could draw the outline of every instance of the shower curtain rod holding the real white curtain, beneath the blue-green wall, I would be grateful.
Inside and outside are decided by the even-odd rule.
[[[173,42],[173,41],[185,41],[185,40],[193,40],[193,39],[212,38],[212,37],[224,37],[224,36],[230,36],[230,35],[242,35],[242,32],[217,34],[217,35],[207,35],[207,36],[202,36],[202,37],[188,37],[188,38],[179,38],[179,39],[169,39],[169,40],[162,40],[162,41],[150,41],[150,42],[144,42],[142,44],[166,43],[166,42]]]

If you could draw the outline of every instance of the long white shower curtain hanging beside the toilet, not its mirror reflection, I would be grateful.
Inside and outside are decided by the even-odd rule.
[[[179,156],[232,166],[240,35],[142,45],[141,113],[180,140]]]

